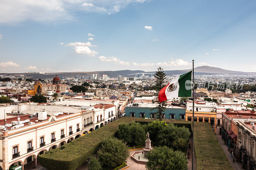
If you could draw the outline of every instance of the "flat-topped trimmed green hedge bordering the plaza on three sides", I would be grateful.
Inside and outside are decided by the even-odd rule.
[[[75,170],[88,157],[95,154],[103,139],[114,137],[120,122],[151,122],[151,119],[123,117],[97,130],[79,137],[61,148],[45,152],[38,157],[39,162],[48,170]],[[191,130],[191,121],[165,120],[177,126],[185,126]],[[210,123],[195,122],[195,152],[197,169],[233,169],[222,150]]]

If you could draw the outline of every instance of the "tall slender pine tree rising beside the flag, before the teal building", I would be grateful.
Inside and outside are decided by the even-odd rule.
[[[159,67],[154,75],[154,77],[156,78],[156,85],[159,86],[159,91],[164,87],[164,80],[166,79],[166,74],[164,73],[163,69],[161,67]],[[155,108],[151,109],[157,109],[155,115],[156,118],[159,119],[160,121],[163,119],[163,112],[167,106],[166,102],[159,102],[157,101],[158,106],[156,106]]]

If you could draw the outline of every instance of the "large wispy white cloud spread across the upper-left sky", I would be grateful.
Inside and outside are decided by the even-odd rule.
[[[0,5],[0,23],[73,21],[78,12],[116,13],[144,2],[150,0],[5,0]]]

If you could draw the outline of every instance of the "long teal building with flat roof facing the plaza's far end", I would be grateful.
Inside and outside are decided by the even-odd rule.
[[[138,106],[128,106],[125,107],[125,116],[132,117],[146,117],[146,118],[154,118],[156,109],[151,110],[153,107],[138,107]],[[186,116],[186,108],[182,107],[170,107],[165,108],[164,115],[165,119],[182,119],[185,120]]]

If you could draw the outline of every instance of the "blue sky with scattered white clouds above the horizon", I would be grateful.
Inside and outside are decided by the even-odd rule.
[[[256,72],[255,38],[253,0],[2,1],[0,72]]]

